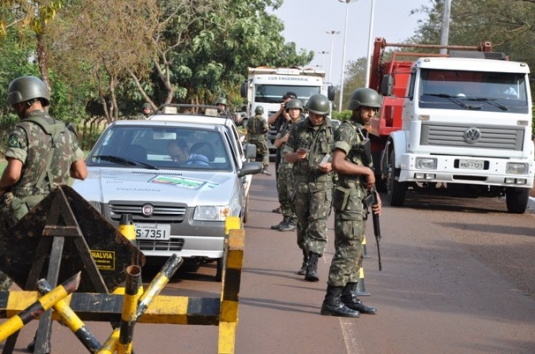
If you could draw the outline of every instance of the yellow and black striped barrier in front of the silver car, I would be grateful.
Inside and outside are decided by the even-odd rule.
[[[59,310],[53,312],[52,319],[62,320],[69,325],[68,321],[62,318],[67,311],[66,309],[70,309],[75,313],[76,319],[72,321],[69,328],[75,333],[83,327],[82,321],[115,323],[122,321],[123,325],[113,330],[110,337],[99,349],[98,353],[103,354],[131,352],[132,330],[133,325],[137,322],[219,326],[218,353],[234,353],[245,231],[241,229],[239,219],[229,219],[225,228],[227,232],[224,252],[225,266],[223,267],[220,297],[199,298],[159,295],[182,263],[182,259],[175,256],[168,260],[171,265],[162,268],[162,271],[153,279],[150,286],[140,295],[139,301],[134,301],[134,298],[140,294],[139,291],[133,291],[136,287],[135,283],[127,284],[127,288],[131,286],[134,288],[126,290],[126,296],[109,293],[73,293],[63,299],[62,307],[58,307]],[[136,272],[134,271],[134,273]],[[35,291],[0,292],[0,318],[17,317],[19,312],[25,310],[34,302],[42,301],[46,296],[50,296],[50,294],[39,298],[39,293]],[[131,298],[127,299],[127,297]],[[57,301],[54,304],[57,304]],[[54,304],[50,304],[48,308]],[[136,312],[135,320],[132,317],[134,308]],[[20,327],[25,323],[27,322],[22,322]],[[16,331],[20,327],[14,327],[13,329]],[[10,333],[5,334],[5,336],[9,335]],[[92,343],[91,348],[97,345],[99,344]],[[87,345],[86,348],[90,351],[94,350]]]

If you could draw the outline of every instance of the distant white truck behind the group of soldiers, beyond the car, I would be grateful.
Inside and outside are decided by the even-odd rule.
[[[241,86],[241,96],[247,101],[246,117],[254,116],[257,106],[264,108],[266,120],[280,108],[282,96],[294,92],[303,101],[317,93],[324,94],[330,101],[334,99],[334,87],[325,82],[325,71],[301,68],[271,68],[266,66],[248,68],[247,81]],[[246,120],[242,122],[246,125]],[[273,145],[276,130],[270,127],[268,145],[270,159],[274,159],[276,148]]]

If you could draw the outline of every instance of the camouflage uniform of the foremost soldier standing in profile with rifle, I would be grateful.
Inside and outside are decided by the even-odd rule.
[[[334,136],[334,148],[346,153],[346,159],[357,165],[364,165],[361,143],[364,134],[362,125],[344,121]],[[371,166],[368,166],[371,167]],[[366,187],[360,175],[338,174],[338,183],[333,195],[335,211],[334,235],[335,254],[329,269],[328,285],[345,286],[357,283],[362,266],[362,241],[366,231],[367,209],[363,200]]]

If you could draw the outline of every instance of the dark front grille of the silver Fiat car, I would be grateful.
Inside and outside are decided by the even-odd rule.
[[[152,206],[152,214],[143,214],[144,206]],[[120,221],[122,214],[132,215],[132,220],[144,222],[181,223],[186,217],[187,205],[183,203],[150,203],[113,200],[108,204],[110,219]]]

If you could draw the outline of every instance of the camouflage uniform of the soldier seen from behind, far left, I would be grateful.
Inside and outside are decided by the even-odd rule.
[[[53,139],[54,134],[47,134],[45,129],[49,132],[58,131],[57,139]],[[55,144],[55,150],[49,172],[43,174],[52,144]],[[10,197],[15,199],[10,205],[2,206],[2,213],[16,222],[48,195],[55,185],[67,184],[71,165],[83,159],[84,154],[78,146],[76,135],[66,128],[65,123],[52,119],[43,111],[34,111],[17,123],[9,135],[5,156],[23,163],[19,181],[4,196],[4,200]],[[41,176],[44,178],[40,180]],[[50,177],[52,180],[49,180]],[[20,208],[15,208],[15,201],[19,202]],[[2,279],[2,275],[2,290],[7,290],[11,281]]]

